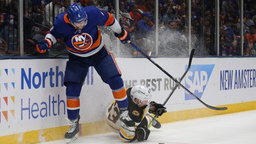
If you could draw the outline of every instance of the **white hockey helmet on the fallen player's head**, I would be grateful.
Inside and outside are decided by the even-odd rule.
[[[138,105],[140,105],[142,103],[142,101],[147,101],[148,102],[147,104],[149,104],[151,101],[151,97],[152,97],[150,94],[150,90],[147,87],[145,87],[144,85],[140,85],[140,84],[133,86],[130,96],[133,101],[135,100],[135,98],[137,98],[139,100]]]

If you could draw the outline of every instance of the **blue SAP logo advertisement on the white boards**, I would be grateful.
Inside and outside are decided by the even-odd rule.
[[[185,66],[185,70],[187,69]],[[195,94],[199,99],[202,97],[204,90],[210,79],[212,70],[215,65],[191,65],[185,77],[185,87]],[[195,99],[185,90],[185,100]]]

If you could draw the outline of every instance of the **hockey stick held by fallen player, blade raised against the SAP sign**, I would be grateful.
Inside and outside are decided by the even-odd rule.
[[[182,79],[185,77],[185,75],[187,74],[188,70],[190,69],[191,66],[191,62],[192,62],[192,58],[194,55],[195,49],[192,49],[191,53],[190,53],[190,57],[189,57],[189,62],[188,62],[188,66],[187,69],[185,71],[185,73],[182,75],[182,77],[180,78],[180,81],[182,81]],[[170,99],[170,97],[173,95],[173,92],[177,89],[179,84],[176,84],[175,87],[173,88],[173,90],[171,91],[171,93],[169,94],[169,96],[167,97],[167,99],[163,102],[163,105],[166,104],[166,102]],[[155,119],[158,117],[159,113],[156,113],[156,115],[153,117],[153,119],[150,121],[149,125],[147,126],[147,129],[149,129],[149,127],[153,124],[153,122],[155,121]]]

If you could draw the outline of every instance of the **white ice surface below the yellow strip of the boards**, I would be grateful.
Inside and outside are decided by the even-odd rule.
[[[150,127],[143,144],[255,144],[256,110],[198,118],[162,124],[160,129]],[[66,143],[65,139],[44,144]],[[72,144],[124,144],[115,133],[78,137]]]

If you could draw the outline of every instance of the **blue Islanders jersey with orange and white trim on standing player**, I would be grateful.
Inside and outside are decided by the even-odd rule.
[[[84,7],[88,21],[83,29],[75,28],[68,19],[67,12],[59,14],[45,38],[53,43],[64,38],[69,52],[86,57],[97,53],[103,46],[100,30],[97,26],[109,26],[114,32],[121,33],[121,26],[116,19],[106,11],[100,11],[94,6]]]

